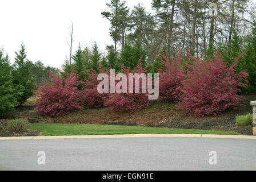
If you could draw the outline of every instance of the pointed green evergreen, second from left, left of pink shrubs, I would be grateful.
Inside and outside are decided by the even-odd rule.
[[[35,79],[31,72],[31,63],[26,59],[27,55],[24,44],[21,44],[21,50],[15,52],[15,54],[13,83],[18,92],[21,93],[19,94],[17,101],[22,105],[26,102],[27,98],[33,96],[32,90],[35,89],[33,84]]]

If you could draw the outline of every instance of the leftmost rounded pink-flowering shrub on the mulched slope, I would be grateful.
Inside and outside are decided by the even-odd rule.
[[[71,73],[66,80],[51,73],[51,84],[39,86],[37,110],[46,117],[57,117],[83,109],[82,91],[77,89],[78,76]]]

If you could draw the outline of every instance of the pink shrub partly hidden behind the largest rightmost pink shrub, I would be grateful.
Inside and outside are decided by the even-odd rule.
[[[181,68],[181,60],[183,59],[180,54],[171,61],[164,53],[162,53],[162,57],[160,57],[162,68],[158,69],[159,96],[163,101],[178,102],[181,96],[182,81],[185,78],[185,73]]]

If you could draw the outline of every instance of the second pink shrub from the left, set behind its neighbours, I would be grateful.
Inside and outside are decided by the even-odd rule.
[[[99,69],[99,73],[94,70],[85,71],[87,77],[83,80],[83,99],[85,104],[89,107],[100,108],[104,107],[104,102],[109,98],[107,93],[98,93],[97,86],[99,82],[97,77],[99,73],[106,73],[110,75],[109,72],[105,72],[103,69]]]

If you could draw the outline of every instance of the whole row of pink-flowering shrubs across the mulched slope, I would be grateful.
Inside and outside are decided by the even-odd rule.
[[[191,55],[188,58],[190,61],[186,63],[180,55],[174,60],[162,55],[162,68],[158,69],[159,96],[162,101],[177,102],[186,113],[198,116],[216,115],[226,109],[237,109],[242,104],[243,97],[238,93],[241,92],[241,86],[246,86],[247,73],[235,73],[239,58],[234,60],[231,67],[223,63],[219,54],[207,60],[195,59]],[[121,72],[126,75],[140,74],[145,73],[146,69],[142,68],[139,61],[134,70],[122,66]],[[74,73],[66,80],[52,75],[50,85],[39,86],[39,90],[35,91],[38,112],[46,117],[56,117],[82,110],[85,105],[95,108],[107,106],[111,111],[128,112],[146,109],[150,105],[145,93],[99,94],[98,73],[86,73],[87,78],[83,81],[78,81]],[[107,74],[110,75],[109,72]],[[82,85],[82,88],[78,89],[78,85]]]

